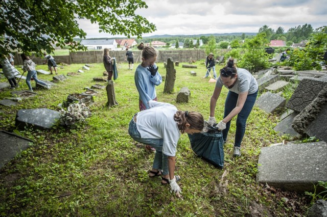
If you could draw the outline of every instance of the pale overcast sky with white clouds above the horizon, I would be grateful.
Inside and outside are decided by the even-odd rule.
[[[156,25],[152,35],[257,33],[261,26],[277,30],[311,24],[327,25],[327,0],[145,0],[147,9],[136,11]],[[86,38],[117,37],[99,33],[97,24],[80,20]],[[122,36],[124,37],[124,36]]]

